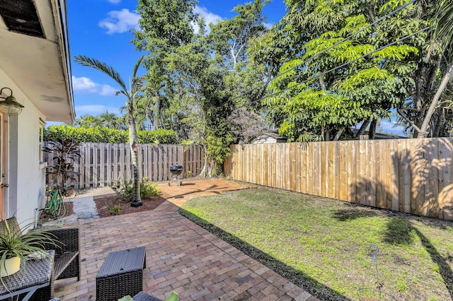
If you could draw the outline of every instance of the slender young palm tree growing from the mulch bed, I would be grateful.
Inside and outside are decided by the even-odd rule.
[[[118,94],[122,94],[126,96],[126,106],[127,112],[129,114],[128,117],[128,128],[129,128],[129,145],[131,150],[131,158],[132,158],[132,171],[134,173],[134,199],[132,200],[131,206],[138,207],[142,206],[142,200],[140,199],[140,181],[139,181],[139,169],[138,169],[138,151],[139,151],[139,144],[137,139],[137,129],[135,126],[135,119],[134,119],[134,100],[137,99],[140,92],[142,92],[142,77],[137,76],[137,70],[139,69],[140,64],[142,64],[143,57],[137,61],[134,66],[134,70],[132,71],[132,82],[130,83],[130,89],[127,90],[125,82],[122,80],[120,73],[117,73],[112,66],[109,66],[97,59],[93,59],[90,57],[85,57],[78,55],[75,57],[77,63],[81,64],[82,66],[88,66],[98,71],[101,71],[110,78],[113,78],[114,81],[120,85],[121,90],[117,91]]]

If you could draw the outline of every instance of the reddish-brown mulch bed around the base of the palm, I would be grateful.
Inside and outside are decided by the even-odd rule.
[[[120,213],[117,215],[136,213],[143,211],[151,211],[157,208],[161,203],[164,203],[166,199],[161,196],[156,196],[154,199],[142,199],[142,206],[132,207],[130,202],[122,201],[118,196],[95,196],[94,202],[96,203],[96,209],[100,218],[106,218],[108,216],[114,216],[111,209],[115,205],[120,205]]]

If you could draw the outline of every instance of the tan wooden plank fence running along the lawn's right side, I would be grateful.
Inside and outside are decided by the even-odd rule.
[[[232,179],[453,220],[453,138],[231,146]]]

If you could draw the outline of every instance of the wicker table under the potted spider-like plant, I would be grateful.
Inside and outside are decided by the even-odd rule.
[[[0,300],[11,298],[18,295],[25,295],[23,301],[30,300],[49,300],[50,297],[41,299],[35,292],[39,289],[49,288],[52,281],[52,268],[54,267],[55,251],[46,251],[50,258],[29,259],[25,261],[25,268],[21,263],[21,269],[11,276],[3,277],[5,286],[0,283]],[[49,290],[47,290],[49,291]]]

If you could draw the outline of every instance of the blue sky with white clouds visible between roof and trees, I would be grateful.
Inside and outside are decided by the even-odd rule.
[[[210,23],[233,17],[235,13],[231,11],[232,8],[249,1],[251,0],[200,0],[196,11]],[[76,64],[73,58],[79,54],[94,57],[113,66],[128,81],[135,62],[143,54],[137,52],[131,43],[134,37],[130,29],[137,28],[139,20],[136,9],[137,0],[67,1],[76,117],[97,115],[105,110],[120,114],[125,98],[123,95],[115,96],[115,91],[118,90],[115,81],[100,71]],[[285,15],[283,0],[271,0],[265,6],[263,15],[270,25],[277,23]],[[145,72],[143,69],[141,71]],[[401,134],[401,131],[392,126],[391,123],[382,121],[380,129]]]

